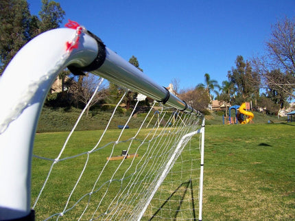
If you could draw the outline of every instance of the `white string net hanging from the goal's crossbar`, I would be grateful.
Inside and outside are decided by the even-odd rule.
[[[200,128],[202,118],[153,102],[140,126],[129,128],[137,120],[137,101],[121,129],[110,129],[126,93],[105,130],[75,131],[82,111],[63,145],[52,142],[45,149],[38,144],[45,135],[37,135],[32,174],[37,220],[196,219],[200,141],[187,135]]]

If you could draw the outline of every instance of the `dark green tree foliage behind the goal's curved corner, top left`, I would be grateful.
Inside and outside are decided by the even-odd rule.
[[[31,15],[26,0],[0,1],[0,73],[25,43],[37,34],[59,27],[64,11],[55,1],[42,1],[40,19]]]

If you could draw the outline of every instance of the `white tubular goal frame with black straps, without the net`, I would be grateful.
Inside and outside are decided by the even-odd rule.
[[[76,75],[85,71],[99,75],[128,90],[175,108],[179,113],[198,117],[197,123],[191,123],[194,131],[187,131],[187,134],[177,138],[178,144],[174,145],[176,151],[169,156],[171,159],[167,160],[162,174],[158,175],[160,180],[156,181],[156,188],[151,192],[154,193],[167,176],[180,154],[178,149],[181,152],[183,148],[183,143],[187,144],[193,135],[201,133],[199,187],[199,220],[201,220],[204,115],[169,93],[165,87],[156,84],[139,69],[105,47],[97,36],[79,25],[75,28],[50,30],[30,40],[14,56],[0,78],[0,220],[29,217],[34,219],[31,204],[31,173],[38,117],[51,85],[58,73],[66,67]],[[182,121],[183,117],[179,118]],[[185,124],[188,124],[188,121],[191,120],[187,119]],[[202,128],[199,128],[199,124],[202,124]],[[144,200],[145,205],[141,208],[145,210],[151,200],[152,196],[147,197]],[[140,219],[144,210],[141,209],[140,216],[134,220]]]

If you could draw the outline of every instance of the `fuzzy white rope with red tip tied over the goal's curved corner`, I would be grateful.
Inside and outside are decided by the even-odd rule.
[[[40,88],[40,85],[42,85],[44,82],[47,82],[47,80],[49,80],[52,75],[58,75],[58,73],[62,71],[67,58],[69,58],[69,56],[71,55],[71,51],[78,46],[78,41],[82,32],[85,32],[85,28],[82,26],[78,26],[76,28],[75,36],[73,37],[73,39],[66,43],[67,50],[60,57],[60,59],[58,59],[58,62],[53,65],[52,69],[50,69],[47,73],[45,73],[34,82],[31,82],[29,85],[27,85],[25,91],[19,93],[19,97],[15,98],[15,104],[13,104],[12,107],[8,107],[10,108],[9,110],[4,111],[6,115],[0,116],[0,135],[5,132],[12,121],[17,119],[19,115],[23,113],[23,110],[25,110],[25,108],[31,105],[32,98],[34,97],[34,95],[36,95],[36,92]],[[5,107],[6,106],[2,106],[1,108]]]

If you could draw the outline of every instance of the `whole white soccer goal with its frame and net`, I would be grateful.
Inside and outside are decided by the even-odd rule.
[[[67,27],[29,41],[0,78],[0,220],[202,220],[204,115],[84,27]],[[43,143],[38,117],[66,67],[98,75],[95,93],[104,79],[125,92],[97,122],[104,130],[76,130],[86,106],[71,132]],[[121,113],[130,91],[137,103]],[[153,102],[137,113],[145,97]]]

